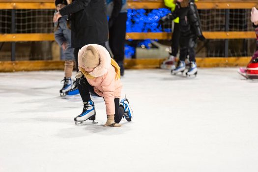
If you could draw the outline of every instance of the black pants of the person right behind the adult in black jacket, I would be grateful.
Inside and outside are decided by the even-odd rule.
[[[126,33],[127,13],[119,13],[109,28],[109,46],[116,62],[124,60],[124,44]]]

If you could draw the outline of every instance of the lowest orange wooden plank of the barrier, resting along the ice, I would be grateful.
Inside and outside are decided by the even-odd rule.
[[[251,57],[197,57],[198,67],[235,67],[246,66]],[[163,58],[125,59],[126,69],[159,68]],[[64,61],[0,61],[0,72],[63,70]]]

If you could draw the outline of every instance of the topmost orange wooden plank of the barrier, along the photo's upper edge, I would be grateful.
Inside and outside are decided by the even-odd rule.
[[[199,9],[251,9],[258,7],[257,0],[199,0]],[[163,0],[129,0],[128,8],[156,9],[164,8]],[[54,9],[53,0],[0,0],[0,9]]]

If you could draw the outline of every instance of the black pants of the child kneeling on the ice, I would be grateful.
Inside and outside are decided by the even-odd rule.
[[[94,87],[88,83],[88,81],[84,76],[77,79],[76,83],[77,83],[80,95],[83,99],[83,102],[87,102],[91,100],[90,93],[100,97],[97,93],[95,93]],[[115,122],[119,123],[124,115],[124,109],[122,107],[119,107],[119,103],[120,103],[119,98],[115,98],[114,101],[115,101]]]

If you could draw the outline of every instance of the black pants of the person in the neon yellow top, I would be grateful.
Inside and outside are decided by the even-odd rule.
[[[179,30],[179,24],[174,23],[174,30],[173,30],[173,35],[172,35],[172,44],[171,44],[171,49],[172,53],[171,55],[176,57],[179,49],[179,39],[180,39],[180,30]]]

